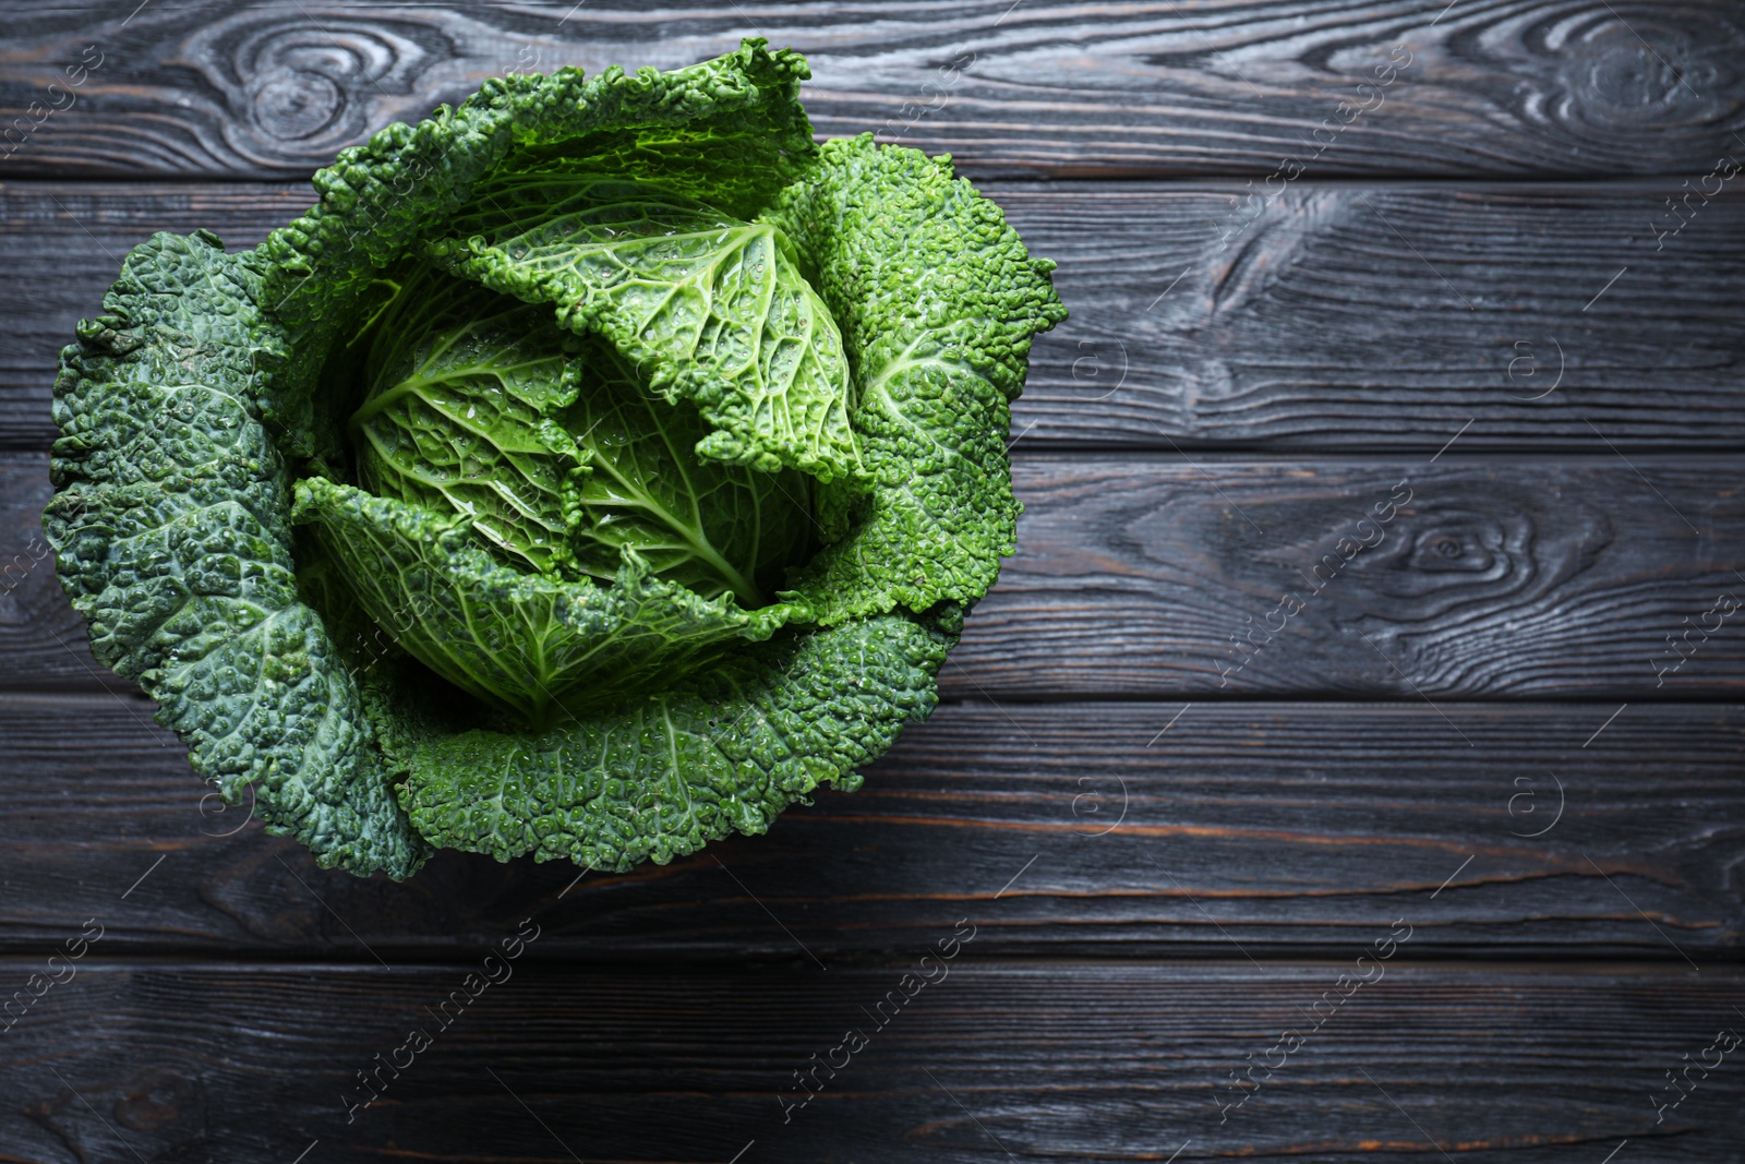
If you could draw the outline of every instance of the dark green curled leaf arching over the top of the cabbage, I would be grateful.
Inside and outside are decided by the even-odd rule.
[[[448,216],[482,178],[611,154],[635,171],[688,171],[677,185],[752,215],[817,155],[799,105],[810,75],[804,58],[770,52],[761,38],[667,73],[513,73],[487,79],[459,108],[438,106],[415,126],[396,122],[340,150],[314,176],[321,202],[258,251],[258,302],[291,340],[267,400],[281,447],[340,461],[347,414],[319,391],[321,363],[356,326],[380,269],[448,234]]]

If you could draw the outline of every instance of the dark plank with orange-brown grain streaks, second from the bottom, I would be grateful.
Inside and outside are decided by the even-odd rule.
[[[1230,958],[1337,955],[1406,913],[1438,955],[1736,958],[1745,709],[1447,710],[946,705],[860,792],[761,838],[579,883],[567,862],[443,853],[393,885],[314,869],[246,806],[202,799],[148,705],[3,696],[0,942],[51,946],[101,914],[108,956],[372,962],[471,951],[532,916],[543,956],[803,942],[834,962],[970,918],[1002,955]]]

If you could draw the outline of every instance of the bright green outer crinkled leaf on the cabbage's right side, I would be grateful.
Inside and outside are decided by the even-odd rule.
[[[827,141],[766,218],[810,258],[855,368],[853,424],[874,485],[853,532],[794,583],[829,625],[974,602],[1012,553],[1005,440],[1030,340],[1066,318],[1031,258],[951,159]]]

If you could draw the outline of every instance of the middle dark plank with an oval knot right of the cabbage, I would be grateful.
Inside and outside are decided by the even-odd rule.
[[[953,698],[1745,688],[1738,457],[1017,452],[1019,551],[942,674]],[[0,455],[0,571],[19,562],[0,597],[0,688],[91,689],[80,620],[31,560],[47,497],[42,454]]]

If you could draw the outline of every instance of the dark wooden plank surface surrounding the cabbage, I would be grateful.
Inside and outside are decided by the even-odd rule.
[[[1693,1066],[1745,1031],[1738,5],[134,5],[0,35],[0,124],[94,63],[0,159],[0,998],[103,934],[0,1031],[0,1161],[1745,1159],[1745,1047]],[[218,811],[42,543],[73,321],[487,75],[752,33],[1061,264],[939,712],[619,876]]]

